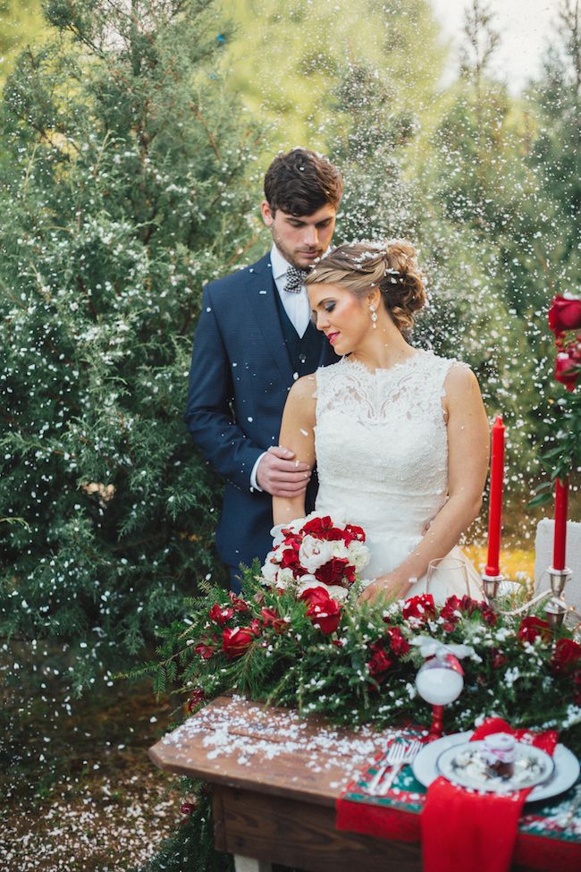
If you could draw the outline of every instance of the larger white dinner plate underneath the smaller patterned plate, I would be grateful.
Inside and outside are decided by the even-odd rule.
[[[417,781],[424,784],[425,787],[429,787],[439,775],[436,768],[436,760],[440,757],[442,751],[451,748],[452,745],[460,745],[468,741],[472,732],[472,730],[455,732],[450,736],[443,736],[442,739],[429,742],[419,752],[411,766]],[[579,761],[572,751],[569,751],[564,745],[557,745],[552,758],[555,764],[555,774],[550,781],[537,784],[526,797],[527,802],[548,800],[552,796],[557,796],[558,793],[567,791],[577,781],[580,771]]]

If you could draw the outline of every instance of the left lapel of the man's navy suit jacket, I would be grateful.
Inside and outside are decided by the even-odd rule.
[[[265,347],[278,368],[286,385],[292,384],[292,365],[282,335],[281,319],[276,308],[274,294],[278,293],[274,284],[270,254],[258,260],[251,267],[252,275],[248,284],[250,306],[257,318],[258,326],[265,340]]]

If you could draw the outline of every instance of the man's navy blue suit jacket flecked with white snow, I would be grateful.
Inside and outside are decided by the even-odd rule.
[[[216,546],[231,566],[262,561],[272,546],[272,497],[250,487],[250,474],[258,457],[278,444],[293,383],[277,293],[270,254],[207,284],[194,341],[186,423],[225,479]],[[323,334],[316,343],[317,366],[338,360]]]

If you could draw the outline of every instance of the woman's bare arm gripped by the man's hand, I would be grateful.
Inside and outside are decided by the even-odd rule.
[[[315,466],[316,377],[304,376],[290,388],[282,413],[279,444],[290,448],[297,463]],[[273,497],[274,524],[286,524],[305,515],[305,492],[298,496]]]

